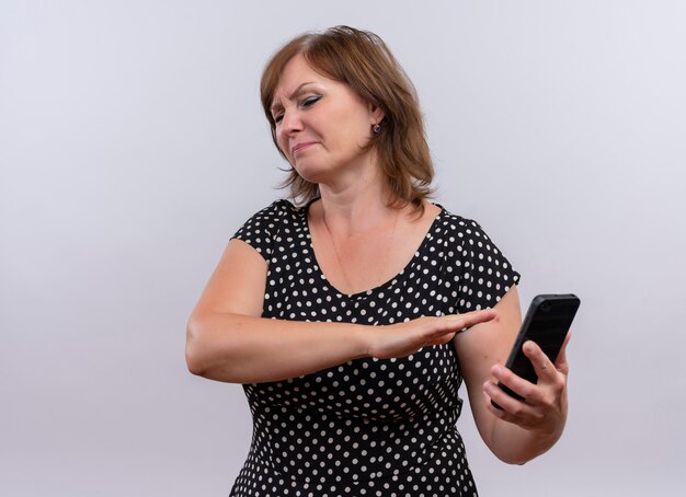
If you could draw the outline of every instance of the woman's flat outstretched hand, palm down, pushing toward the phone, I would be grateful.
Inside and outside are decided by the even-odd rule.
[[[423,347],[446,344],[456,333],[478,323],[491,321],[492,309],[439,317],[419,317],[404,323],[375,326],[367,332],[368,355],[377,359],[407,357]]]

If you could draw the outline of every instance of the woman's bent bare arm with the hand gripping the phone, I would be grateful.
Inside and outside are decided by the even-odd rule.
[[[527,342],[524,351],[534,363],[538,383],[529,383],[507,370],[503,365],[522,323],[516,287],[501,299],[495,311],[494,320],[458,334],[455,347],[481,438],[502,461],[524,464],[550,449],[562,435],[569,367],[564,346],[552,365],[535,343]],[[498,381],[526,402],[504,393]],[[491,400],[503,409],[493,407]]]

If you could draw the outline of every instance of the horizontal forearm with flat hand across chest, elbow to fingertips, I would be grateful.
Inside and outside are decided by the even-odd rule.
[[[482,310],[367,326],[205,312],[188,322],[186,362],[192,373],[211,380],[279,381],[362,357],[405,357],[445,344],[458,330],[494,316],[493,311]]]

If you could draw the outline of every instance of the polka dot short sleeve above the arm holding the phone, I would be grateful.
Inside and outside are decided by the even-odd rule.
[[[458,224],[457,310],[462,313],[493,308],[519,282],[519,274],[479,223],[460,218]]]

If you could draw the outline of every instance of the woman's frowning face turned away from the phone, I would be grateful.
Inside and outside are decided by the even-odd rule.
[[[350,86],[310,68],[302,56],[284,68],[271,111],[278,148],[311,183],[368,164],[363,148],[384,117]]]

